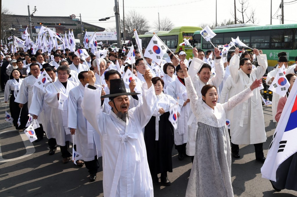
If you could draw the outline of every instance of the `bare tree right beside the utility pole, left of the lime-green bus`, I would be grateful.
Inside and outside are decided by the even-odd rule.
[[[134,29],[138,30],[139,34],[144,34],[149,29],[149,21],[141,14],[130,10],[125,16],[126,38],[132,40]]]

